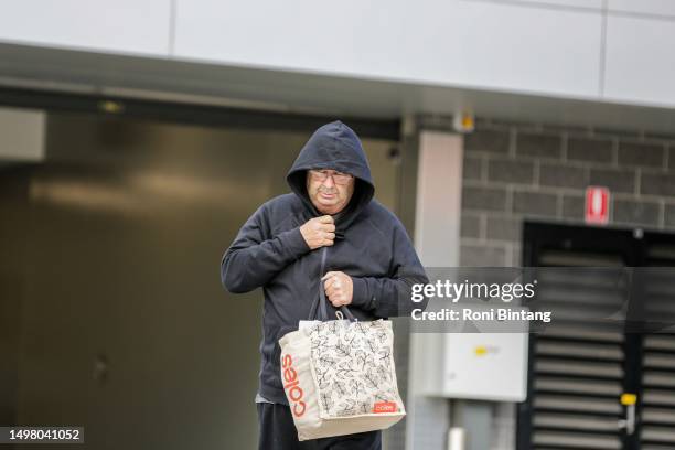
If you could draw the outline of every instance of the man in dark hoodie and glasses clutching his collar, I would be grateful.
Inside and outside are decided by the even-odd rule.
[[[407,315],[425,270],[400,221],[377,201],[356,133],[341,121],[319,128],[287,175],[292,193],[271,199],[244,224],[221,264],[233,293],[262,288],[259,448],[381,449],[381,432],[299,442],[279,369],[278,340],[315,319],[319,289],[331,318],[349,304],[360,320]]]

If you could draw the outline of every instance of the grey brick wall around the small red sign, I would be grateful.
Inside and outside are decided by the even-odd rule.
[[[610,225],[675,229],[675,136],[481,119],[465,136],[461,265],[521,265],[524,218],[583,222],[590,184]]]

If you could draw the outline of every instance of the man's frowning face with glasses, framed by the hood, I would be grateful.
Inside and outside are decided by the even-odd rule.
[[[338,214],[354,194],[354,176],[334,170],[308,170],[307,193],[322,214]]]

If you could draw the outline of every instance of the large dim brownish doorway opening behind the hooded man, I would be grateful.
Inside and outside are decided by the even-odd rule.
[[[313,121],[126,105],[50,110],[45,161],[0,171],[0,417],[93,449],[255,448],[262,294],[226,293],[219,262]],[[364,135],[395,210],[397,141]]]

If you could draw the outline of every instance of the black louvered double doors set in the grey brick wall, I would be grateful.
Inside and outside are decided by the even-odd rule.
[[[641,228],[526,222],[523,244],[523,265],[528,267],[675,266],[675,235]],[[625,292],[604,281],[596,276],[549,286],[562,300],[582,296],[619,308]],[[673,281],[661,280],[658,294],[674,299]],[[624,394],[636,396],[633,407]],[[528,396],[518,405],[518,450],[665,450],[675,448],[674,429],[675,335],[626,332],[621,325],[531,336]]]

